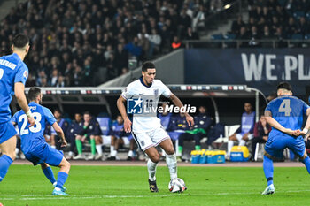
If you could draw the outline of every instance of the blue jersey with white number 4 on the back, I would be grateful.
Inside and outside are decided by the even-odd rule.
[[[272,117],[280,125],[291,130],[301,129],[304,115],[309,106],[302,100],[292,95],[282,95],[267,104],[265,111],[271,111]],[[269,138],[275,136],[290,136],[272,128]]]

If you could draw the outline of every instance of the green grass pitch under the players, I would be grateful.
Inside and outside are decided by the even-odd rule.
[[[53,168],[57,177],[58,168]],[[167,167],[159,166],[159,193],[148,188],[146,166],[72,166],[69,197],[50,195],[52,186],[39,166],[16,165],[0,183],[0,202],[10,205],[310,205],[310,178],[304,167],[275,168],[275,194],[266,187],[262,168],[178,168],[188,190],[172,194]]]

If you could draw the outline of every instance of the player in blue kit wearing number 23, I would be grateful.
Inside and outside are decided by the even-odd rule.
[[[48,122],[60,137],[61,147],[66,147],[65,134],[58,125],[56,118],[49,109],[40,105],[42,103],[42,93],[40,88],[30,88],[28,92],[29,108],[35,118],[35,126],[28,127],[27,116],[24,111],[18,111],[12,118],[12,123],[18,124],[21,139],[21,150],[27,160],[34,165],[41,164],[44,175],[55,187],[52,195],[67,195],[66,182],[70,170],[70,164],[66,161],[64,154],[57,149],[50,147],[45,141],[43,132],[45,123]],[[58,179],[56,181],[50,165],[60,167]]]

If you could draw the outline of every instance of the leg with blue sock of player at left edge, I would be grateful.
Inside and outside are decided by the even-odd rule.
[[[14,127],[12,127],[14,128]],[[15,131],[15,130],[14,130]],[[16,132],[15,132],[16,134]],[[2,181],[9,170],[10,165],[15,160],[16,136],[0,144],[2,156],[0,157],[0,181]]]

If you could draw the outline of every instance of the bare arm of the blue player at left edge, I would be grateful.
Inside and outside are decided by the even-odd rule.
[[[31,111],[27,104],[27,99],[25,95],[25,86],[22,82],[16,82],[14,84],[14,93],[17,99],[17,102],[19,103],[20,108],[25,111],[27,115],[27,119],[29,122],[29,127],[35,125],[35,118],[32,116]]]

